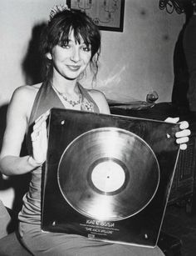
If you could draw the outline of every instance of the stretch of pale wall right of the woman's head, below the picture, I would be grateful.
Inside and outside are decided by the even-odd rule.
[[[159,101],[171,99],[174,45],[184,17],[160,11],[158,2],[126,1],[124,33],[103,33],[100,83],[112,98],[145,100],[155,90]]]

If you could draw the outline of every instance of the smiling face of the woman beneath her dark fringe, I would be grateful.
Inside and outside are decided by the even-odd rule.
[[[91,46],[87,47],[81,38],[77,43],[73,31],[70,33],[69,42],[64,45],[56,45],[47,58],[53,62],[53,75],[61,75],[70,80],[79,78],[90,63]]]

